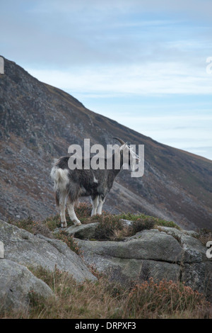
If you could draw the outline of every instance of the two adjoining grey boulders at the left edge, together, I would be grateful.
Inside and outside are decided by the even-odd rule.
[[[88,270],[83,260],[60,240],[42,235],[32,235],[0,220],[0,310],[28,307],[30,292],[42,297],[53,295],[46,283],[36,278],[27,267],[40,267],[70,273],[82,282],[97,278]]]

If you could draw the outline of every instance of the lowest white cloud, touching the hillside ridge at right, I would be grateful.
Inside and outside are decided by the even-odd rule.
[[[187,110],[180,115],[171,111],[167,115],[146,114],[143,110],[140,115],[133,111],[129,115],[108,112],[107,116],[160,143],[212,159],[212,115],[207,111],[194,110],[192,115]]]

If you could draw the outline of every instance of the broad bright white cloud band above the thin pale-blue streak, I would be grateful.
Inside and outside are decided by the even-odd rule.
[[[211,75],[180,62],[153,62],[127,67],[75,67],[66,71],[30,69],[33,76],[71,94],[98,96],[211,94]]]

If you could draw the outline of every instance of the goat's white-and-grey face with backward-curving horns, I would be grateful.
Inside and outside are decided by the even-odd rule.
[[[134,149],[132,147],[127,145],[127,142],[119,139],[119,137],[114,137],[114,139],[118,140],[121,143],[121,145],[119,146],[119,152],[123,156],[124,164],[130,166],[131,171],[134,171],[136,164],[141,161],[139,155],[134,152]]]

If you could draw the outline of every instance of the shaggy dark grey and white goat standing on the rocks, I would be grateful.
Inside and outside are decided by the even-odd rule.
[[[70,169],[69,158],[64,156],[57,159],[52,167],[51,177],[54,181],[54,191],[57,206],[60,210],[61,227],[66,227],[66,207],[69,217],[74,225],[81,225],[76,217],[74,203],[81,196],[90,196],[93,201],[92,215],[102,214],[102,205],[105,196],[112,188],[113,182],[123,164],[126,162],[124,156],[127,156],[127,164],[134,170],[134,165],[139,161],[138,155],[123,140],[119,140],[121,145],[112,154],[112,169],[107,169],[107,159],[104,158],[105,169]],[[125,154],[125,155],[124,155]],[[126,155],[127,154],[127,155]],[[117,169],[115,166],[116,158],[119,158],[120,164]]]

